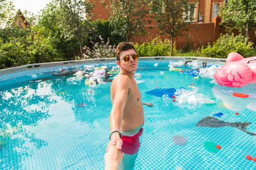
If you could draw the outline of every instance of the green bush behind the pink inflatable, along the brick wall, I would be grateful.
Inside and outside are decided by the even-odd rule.
[[[234,36],[234,34],[225,34],[215,41],[212,45],[202,46],[201,53],[204,57],[226,58],[228,53],[237,52],[244,57],[252,56],[253,43],[244,36]]]

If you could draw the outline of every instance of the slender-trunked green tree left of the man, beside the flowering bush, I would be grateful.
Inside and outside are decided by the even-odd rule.
[[[83,38],[88,36],[92,23],[93,4],[89,0],[57,0],[60,27],[65,37],[79,41],[83,57]]]

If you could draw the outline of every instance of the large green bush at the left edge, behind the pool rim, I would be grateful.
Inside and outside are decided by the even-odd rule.
[[[50,40],[43,38],[40,34],[14,28],[2,35],[4,34],[0,34],[0,69],[37,62],[51,62],[56,58],[56,50]]]

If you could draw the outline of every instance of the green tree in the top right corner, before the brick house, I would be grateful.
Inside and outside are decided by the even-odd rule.
[[[256,0],[229,0],[220,10],[222,23],[228,31],[237,29],[246,38],[256,27]]]

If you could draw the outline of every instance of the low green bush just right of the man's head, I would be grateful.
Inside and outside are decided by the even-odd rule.
[[[134,47],[141,57],[170,56],[171,41],[170,39],[162,41],[161,38],[157,37],[150,43],[143,43],[141,45],[136,43]],[[173,56],[176,54],[176,43],[173,43]]]

